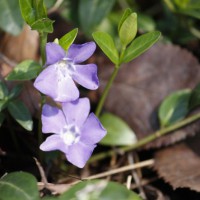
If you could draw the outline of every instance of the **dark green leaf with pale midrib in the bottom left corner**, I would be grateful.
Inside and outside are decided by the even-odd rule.
[[[26,172],[12,172],[0,179],[1,200],[39,200],[36,178]]]

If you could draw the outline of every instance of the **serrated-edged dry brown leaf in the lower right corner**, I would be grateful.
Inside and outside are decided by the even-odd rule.
[[[200,137],[176,144],[155,154],[154,168],[160,177],[176,188],[200,192]]]

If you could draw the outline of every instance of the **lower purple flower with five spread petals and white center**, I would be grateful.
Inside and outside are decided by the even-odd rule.
[[[55,133],[47,137],[40,149],[60,150],[69,162],[84,167],[96,143],[106,134],[97,117],[90,113],[87,98],[62,103],[62,110],[45,104],[42,110],[42,132]]]

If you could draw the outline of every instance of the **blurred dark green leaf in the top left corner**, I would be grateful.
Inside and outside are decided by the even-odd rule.
[[[23,28],[19,3],[17,0],[0,1],[0,28],[12,35],[18,35]]]

